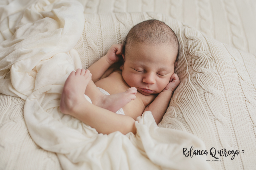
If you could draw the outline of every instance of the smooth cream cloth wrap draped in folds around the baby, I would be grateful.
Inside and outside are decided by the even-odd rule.
[[[82,67],[72,49],[84,26],[80,3],[38,1],[13,24],[14,35],[1,43],[0,92],[26,100],[24,117],[31,137],[56,152],[63,169],[211,169],[203,156],[183,155],[187,146],[205,149],[201,140],[158,127],[151,112],[137,118],[136,135],[98,134],[60,112],[65,80]]]

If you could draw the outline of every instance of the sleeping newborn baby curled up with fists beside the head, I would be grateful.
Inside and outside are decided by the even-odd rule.
[[[61,112],[103,134],[135,134],[135,120],[145,111],[151,111],[158,124],[180,83],[174,73],[178,49],[178,39],[165,23],[138,23],[127,34],[125,47],[112,45],[87,70],[70,73],[61,95]],[[111,71],[120,56],[122,66]]]

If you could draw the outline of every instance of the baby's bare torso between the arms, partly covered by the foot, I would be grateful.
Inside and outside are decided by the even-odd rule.
[[[122,93],[130,88],[130,86],[124,81],[121,71],[114,71],[109,76],[95,82],[95,85],[106,90],[110,95]],[[136,120],[138,116],[142,115],[148,104],[150,104],[155,98],[156,95],[145,96],[137,91],[136,99],[127,103],[123,107],[124,114]]]

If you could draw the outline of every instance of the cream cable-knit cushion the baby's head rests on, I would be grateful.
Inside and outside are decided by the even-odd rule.
[[[171,17],[152,12],[109,15],[85,14],[85,29],[75,49],[84,68],[122,43],[130,28],[146,19],[159,19],[176,33],[180,51],[175,90],[160,127],[190,132],[205,142],[207,151],[244,150],[244,154],[218,156],[214,169],[253,169],[256,150],[256,58],[205,36]],[[100,23],[100,24],[99,24]],[[86,31],[85,31],[86,30]],[[102,38],[102,37],[108,38]],[[83,42],[83,48],[80,44]],[[88,61],[88,62],[83,62]],[[190,148],[191,146],[184,146]],[[216,151],[217,152],[217,151]],[[207,155],[207,159],[214,159]]]

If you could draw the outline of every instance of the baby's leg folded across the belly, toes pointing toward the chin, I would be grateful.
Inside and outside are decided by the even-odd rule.
[[[90,97],[92,104],[104,109],[108,109],[112,112],[118,111],[131,100],[134,100],[136,98],[136,93],[137,89],[135,87],[131,87],[123,93],[104,95],[92,82],[92,80],[89,82],[85,90],[85,94]]]

